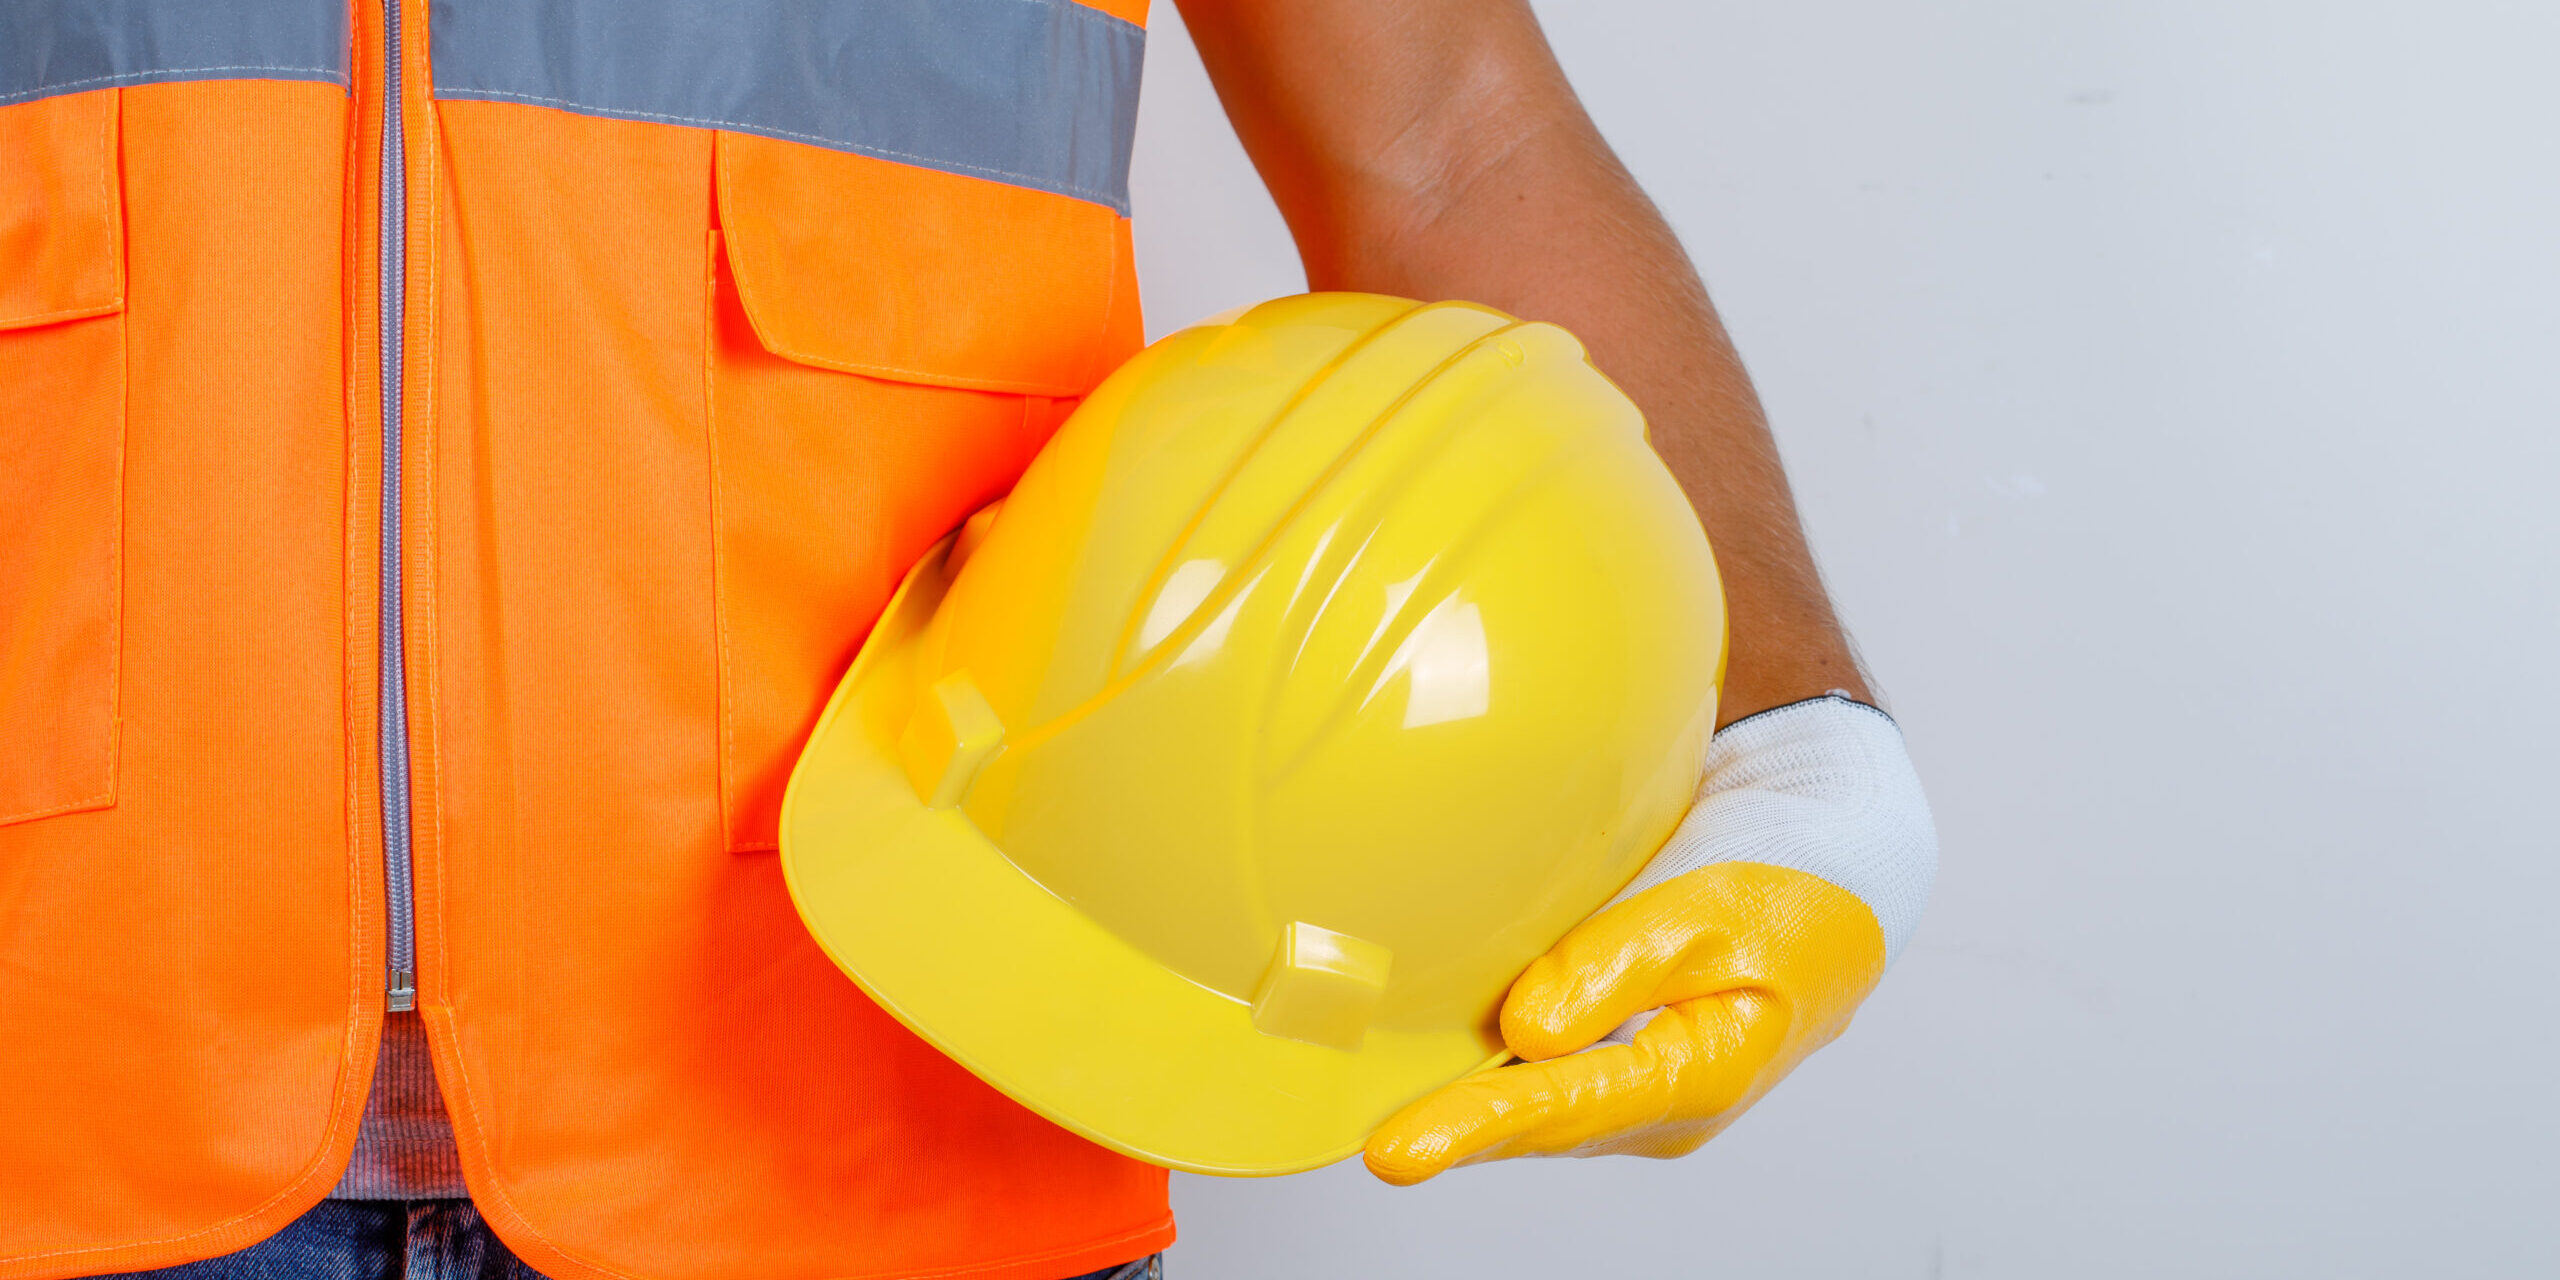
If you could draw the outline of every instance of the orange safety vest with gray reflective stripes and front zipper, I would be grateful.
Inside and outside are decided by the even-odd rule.
[[[1139,343],[1144,3],[0,8],[0,1277],[292,1221],[412,1001],[561,1280],[1172,1239],[773,858],[901,568]]]

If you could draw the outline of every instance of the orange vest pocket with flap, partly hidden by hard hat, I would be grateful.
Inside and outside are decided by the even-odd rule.
[[[719,786],[771,850],[791,763],[906,568],[1139,346],[1106,205],[722,133],[707,256]]]

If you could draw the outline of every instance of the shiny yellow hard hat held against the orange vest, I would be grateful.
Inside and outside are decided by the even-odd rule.
[[[924,556],[781,814],[883,1009],[1106,1147],[1352,1155],[1687,809],[1715,561],[1554,325],[1303,294],[1111,374]]]

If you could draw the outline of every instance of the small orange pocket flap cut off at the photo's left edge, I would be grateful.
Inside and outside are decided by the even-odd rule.
[[[115,95],[0,108],[0,330],[125,305]]]

